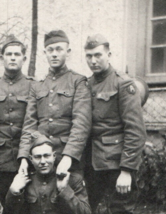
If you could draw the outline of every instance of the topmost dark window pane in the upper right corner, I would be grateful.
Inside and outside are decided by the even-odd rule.
[[[166,15],[166,0],[153,0],[153,16]]]

